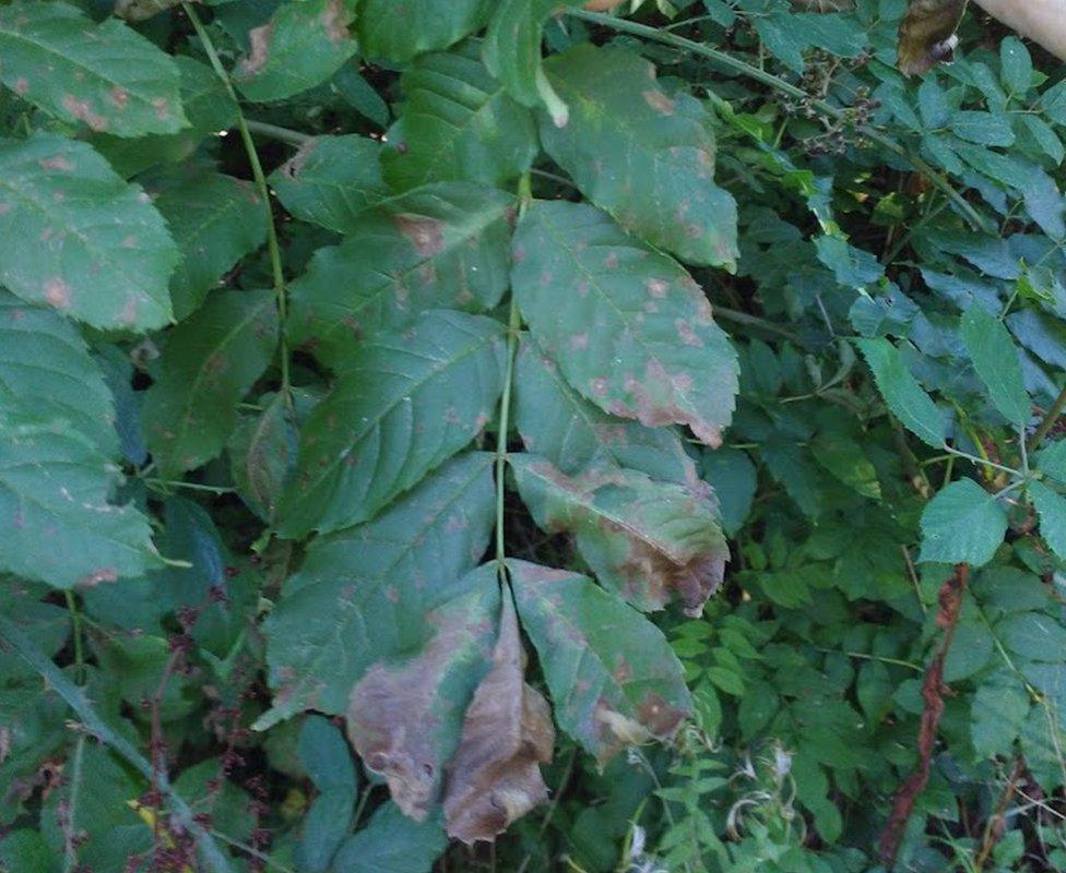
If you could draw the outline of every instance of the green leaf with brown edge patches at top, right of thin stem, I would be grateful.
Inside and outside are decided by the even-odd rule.
[[[344,0],[283,3],[248,34],[251,50],[234,72],[249,100],[282,100],[325,82],[356,51]]]

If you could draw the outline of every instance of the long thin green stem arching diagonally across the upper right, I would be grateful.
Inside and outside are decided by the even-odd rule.
[[[760,82],[768,87],[781,92],[782,94],[787,94],[790,97],[804,100],[813,109],[816,109],[824,116],[828,116],[836,121],[851,123],[848,113],[843,109],[826,103],[825,100],[812,97],[803,88],[796,87],[795,85],[785,82],[783,79],[779,79],[772,73],[760,70],[758,67],[753,67],[738,58],[734,58],[732,55],[725,51],[708,48],[704,45],[694,43],[691,39],[686,39],[683,36],[665,33],[654,27],[637,24],[637,22],[626,21],[625,19],[616,19],[612,15],[604,15],[600,12],[585,12],[584,10],[580,9],[568,9],[567,14],[571,17],[591,22],[592,24],[600,24],[604,27],[611,27],[614,31],[632,34],[633,36],[640,36],[655,43],[662,43],[663,45],[673,46],[674,48],[691,51],[694,55],[699,55],[708,60],[716,61],[723,67],[735,70],[742,75],[745,75],[748,79],[754,79],[756,82]],[[870,140],[870,142],[877,143],[879,146],[881,146],[881,148],[886,148],[897,157],[903,158],[923,176],[928,177],[929,181],[933,182],[934,186],[939,188],[945,194],[947,194],[948,198],[951,199],[951,201],[956,204],[956,206],[959,207],[967,220],[975,230],[983,230],[987,234],[996,232],[995,226],[992,225],[983,215],[981,215],[981,213],[974,210],[973,206],[967,202],[966,198],[956,191],[944,176],[938,174],[922,158],[917,157],[916,155],[912,155],[902,145],[897,143],[895,140],[889,139],[875,128],[868,127],[867,124],[854,124],[854,128]]]

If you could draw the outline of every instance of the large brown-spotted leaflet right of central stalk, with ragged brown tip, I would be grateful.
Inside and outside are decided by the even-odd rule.
[[[519,225],[514,261],[531,334],[583,396],[612,415],[721,441],[736,352],[676,262],[592,206],[542,201]]]

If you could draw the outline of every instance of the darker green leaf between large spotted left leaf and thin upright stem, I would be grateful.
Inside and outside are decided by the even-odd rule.
[[[266,212],[250,182],[206,172],[167,179],[155,206],[181,252],[170,278],[174,315],[181,321],[226,271],[266,241]]]

